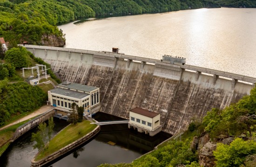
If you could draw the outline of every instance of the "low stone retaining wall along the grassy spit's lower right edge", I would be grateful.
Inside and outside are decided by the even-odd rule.
[[[60,156],[66,154],[67,152],[71,151],[72,149],[80,146],[81,144],[83,144],[84,142],[90,140],[92,137],[94,137],[96,134],[98,134],[101,130],[101,127],[98,125],[92,132],[90,132],[89,134],[81,137],[80,139],[74,141],[73,143],[70,143],[69,145],[61,148],[60,150],[54,152],[53,154],[48,155],[47,157],[45,157],[42,160],[32,160],[31,161],[31,167],[41,167],[42,165],[45,165],[53,160],[55,160],[56,158],[59,158]]]

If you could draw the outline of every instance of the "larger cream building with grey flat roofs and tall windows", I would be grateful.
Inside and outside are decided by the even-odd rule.
[[[95,114],[100,110],[100,88],[65,81],[48,91],[51,106],[70,110],[73,102],[84,107],[86,114]]]

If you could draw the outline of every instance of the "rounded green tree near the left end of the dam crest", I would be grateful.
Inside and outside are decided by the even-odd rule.
[[[12,48],[6,52],[5,60],[15,68],[27,67],[27,50],[25,47]]]

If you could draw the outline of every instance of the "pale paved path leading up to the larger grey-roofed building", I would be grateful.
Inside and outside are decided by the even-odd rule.
[[[5,129],[5,128],[7,128],[7,127],[10,127],[10,126],[12,126],[12,125],[15,125],[15,124],[17,124],[17,123],[19,123],[19,122],[22,122],[22,121],[24,121],[24,120],[28,120],[28,119],[30,119],[30,118],[33,118],[33,117],[35,117],[35,116],[37,116],[37,115],[43,114],[43,113],[45,113],[45,112],[47,112],[48,110],[53,109],[53,108],[54,108],[54,107],[52,107],[52,106],[47,106],[47,105],[42,106],[42,107],[40,107],[38,110],[36,110],[36,111],[34,111],[33,113],[31,113],[31,114],[29,114],[29,115],[27,115],[27,116],[21,118],[20,120],[16,120],[16,121],[13,122],[13,123],[10,123],[10,124],[8,124],[8,125],[6,125],[6,126],[4,126],[4,127],[1,127],[0,130]]]

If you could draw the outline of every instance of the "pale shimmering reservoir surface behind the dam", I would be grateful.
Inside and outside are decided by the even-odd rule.
[[[162,59],[256,77],[256,9],[216,8],[112,17],[59,26],[68,48]]]

